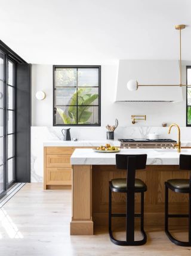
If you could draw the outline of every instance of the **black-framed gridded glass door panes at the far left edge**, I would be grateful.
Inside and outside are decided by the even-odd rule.
[[[0,51],[0,197],[15,182],[16,64]]]

